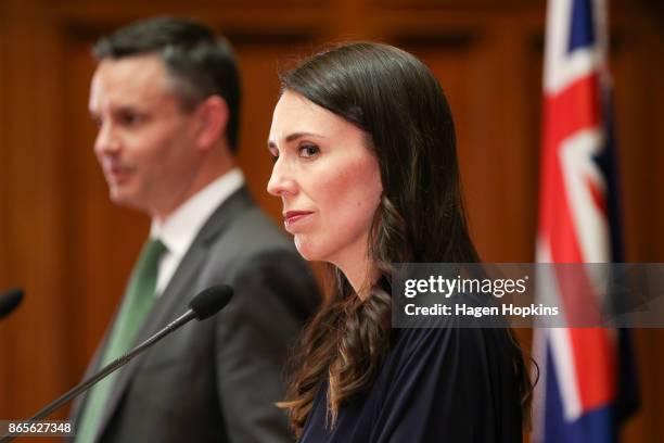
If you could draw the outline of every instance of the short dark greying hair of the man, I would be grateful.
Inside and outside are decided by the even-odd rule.
[[[210,96],[221,97],[229,110],[228,143],[237,151],[240,75],[230,43],[212,29],[191,20],[153,17],[101,38],[92,53],[98,61],[156,54],[173,77],[183,110],[193,110]]]

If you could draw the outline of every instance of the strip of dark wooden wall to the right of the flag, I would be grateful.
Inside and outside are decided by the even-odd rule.
[[[628,262],[664,262],[662,15],[652,12],[613,11],[611,72]],[[652,441],[664,434],[664,329],[635,330],[634,338],[642,406],[624,435]]]

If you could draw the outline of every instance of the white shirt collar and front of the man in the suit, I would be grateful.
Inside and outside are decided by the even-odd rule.
[[[244,175],[235,167],[189,198],[165,220],[152,219],[150,238],[158,238],[168,249],[159,262],[155,296],[164,292],[213,212],[243,183]]]

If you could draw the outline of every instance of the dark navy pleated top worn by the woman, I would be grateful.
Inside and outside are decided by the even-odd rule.
[[[327,420],[323,385],[299,443],[514,443],[521,402],[505,329],[400,329],[372,388]]]

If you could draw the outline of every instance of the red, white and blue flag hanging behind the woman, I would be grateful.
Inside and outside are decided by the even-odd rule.
[[[546,27],[537,261],[622,262],[605,1],[549,0]],[[587,280],[583,296],[598,296]],[[638,404],[628,331],[534,334],[533,441],[617,441]]]

